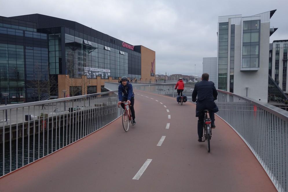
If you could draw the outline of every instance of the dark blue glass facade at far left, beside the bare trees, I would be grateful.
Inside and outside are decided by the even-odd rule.
[[[35,101],[48,75],[47,35],[7,27],[13,26],[0,27],[1,104],[2,93],[9,93],[11,104]],[[36,82],[41,82],[38,87]]]

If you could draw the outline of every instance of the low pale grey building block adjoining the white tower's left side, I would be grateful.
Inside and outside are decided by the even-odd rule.
[[[203,58],[203,73],[208,73],[209,81],[217,87],[217,57]]]

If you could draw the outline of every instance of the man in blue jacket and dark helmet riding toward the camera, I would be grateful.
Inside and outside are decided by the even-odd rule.
[[[134,93],[133,93],[133,86],[132,84],[128,81],[127,77],[122,77],[120,81],[120,85],[118,86],[118,98],[119,102],[118,105],[121,102],[127,101],[131,106],[131,114],[132,114],[132,123],[135,125],[135,110],[134,110]],[[124,109],[124,104],[121,104],[122,108]]]

